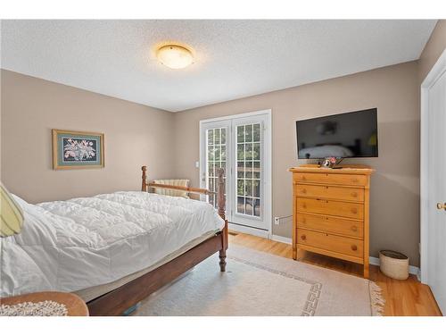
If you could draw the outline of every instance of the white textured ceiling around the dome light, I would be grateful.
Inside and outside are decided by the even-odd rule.
[[[181,111],[418,59],[436,21],[2,21],[2,68]],[[183,70],[153,47],[194,48]]]

